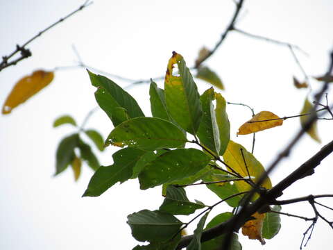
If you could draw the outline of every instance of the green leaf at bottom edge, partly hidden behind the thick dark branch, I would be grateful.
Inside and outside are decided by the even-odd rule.
[[[230,219],[232,217],[232,213],[221,213],[219,215],[216,215],[205,227],[205,230],[212,228],[214,226],[217,226],[223,222],[225,222],[227,219]],[[201,250],[217,250],[223,246],[225,241],[225,234],[214,238],[212,240],[208,240],[206,242],[201,243]],[[232,242],[230,244],[230,250],[241,250],[241,244],[238,241],[238,235],[237,233],[233,233],[232,235]]]

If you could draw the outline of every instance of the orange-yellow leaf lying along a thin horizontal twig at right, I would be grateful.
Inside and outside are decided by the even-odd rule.
[[[260,122],[263,121],[263,122]],[[250,133],[256,133],[263,131],[267,128],[273,128],[275,126],[281,126],[283,120],[269,111],[262,111],[257,113],[252,119],[245,124],[241,125],[238,129],[237,135],[248,135]]]

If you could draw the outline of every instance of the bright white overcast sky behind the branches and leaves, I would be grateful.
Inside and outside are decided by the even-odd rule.
[[[0,56],[82,3],[1,0]],[[298,44],[309,53],[304,56],[297,52],[307,74],[318,76],[326,71],[328,51],[332,49],[332,10],[330,0],[248,0],[237,26],[250,33]],[[6,99],[19,78],[35,69],[74,65],[77,58],[71,44],[75,44],[87,65],[128,78],[164,74],[171,51],[181,53],[191,66],[200,47],[214,46],[233,11],[231,0],[96,0],[29,45],[31,58],[0,72],[0,100]],[[293,88],[292,76],[302,79],[302,73],[286,47],[230,33],[206,64],[223,79],[223,96],[227,101],[246,103],[257,112],[270,110],[280,116],[300,112],[307,92]],[[121,86],[128,84],[114,80]],[[197,83],[200,92],[209,88],[206,83]],[[159,85],[162,87],[162,82]],[[320,87],[316,81],[311,81],[311,85],[315,90]],[[129,92],[146,115],[150,114],[148,85],[139,85]],[[333,99],[332,94],[329,99]],[[137,244],[130,235],[126,216],[144,208],[157,209],[162,203],[160,188],[142,191],[135,180],[114,185],[101,197],[81,198],[92,176],[87,166],[83,166],[78,183],[74,183],[70,169],[52,177],[58,142],[74,132],[70,126],[53,129],[53,120],[70,114],[80,123],[95,106],[94,88],[87,73],[73,69],[56,72],[49,87],[10,115],[0,117],[0,249],[132,249]],[[240,106],[228,106],[228,114],[232,140],[249,149],[251,136],[235,135],[237,128],[250,118],[250,112]],[[267,166],[299,126],[298,119],[289,119],[281,127],[257,133],[257,159]],[[87,127],[98,129],[104,136],[112,130],[103,111],[94,114]],[[318,128],[323,144],[308,136],[303,138],[291,157],[272,174],[273,184],[332,140],[332,122],[321,121]],[[108,148],[100,154],[103,165],[112,164],[113,151]],[[286,190],[284,199],[332,194],[332,161],[332,156],[323,160],[316,174]],[[214,194],[207,195],[204,188],[188,190],[191,199],[208,204],[218,200]],[[333,206],[332,200],[322,201]],[[217,207],[212,215],[225,208],[228,207]],[[313,216],[306,203],[284,206],[282,211]],[[332,211],[323,212],[333,220]],[[279,235],[267,240],[264,247],[243,237],[241,244],[244,249],[298,249],[307,226],[309,223],[302,220],[283,217]],[[318,222],[307,249],[330,247],[332,235],[327,224]]]

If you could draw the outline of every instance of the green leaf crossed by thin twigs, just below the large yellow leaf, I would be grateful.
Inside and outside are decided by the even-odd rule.
[[[210,172],[205,174],[205,176],[203,176],[202,179],[205,182],[210,182],[210,181],[224,181],[224,180],[227,180],[228,178],[230,178],[221,173],[223,173],[223,172],[221,172],[217,169],[211,169]],[[232,184],[230,182],[214,183],[214,184],[206,185],[206,187],[208,189],[210,189],[212,192],[214,192],[219,198],[225,199],[225,198],[230,197],[230,195],[232,195],[232,194],[237,194],[240,192],[235,183],[236,182],[234,182]],[[239,205],[239,201],[241,200],[242,197],[243,197],[243,195],[238,195],[236,197],[228,199],[225,202],[228,203],[229,206],[235,208]]]

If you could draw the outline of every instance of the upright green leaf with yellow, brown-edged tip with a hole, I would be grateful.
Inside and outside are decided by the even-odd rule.
[[[179,76],[173,76],[173,65],[178,66]],[[185,131],[196,134],[202,110],[196,83],[180,54],[173,52],[164,83],[165,99],[171,117]]]

